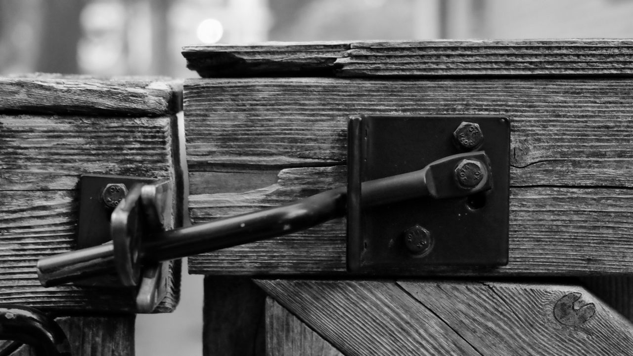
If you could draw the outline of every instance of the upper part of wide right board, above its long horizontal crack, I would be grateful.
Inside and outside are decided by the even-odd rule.
[[[349,114],[503,115],[513,187],[633,187],[632,92],[621,79],[187,80],[187,163],[332,166],[346,160]]]

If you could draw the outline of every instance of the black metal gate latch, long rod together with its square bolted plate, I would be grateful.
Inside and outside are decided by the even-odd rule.
[[[123,285],[138,286],[144,267],[286,235],[342,216],[348,218],[351,272],[415,274],[426,265],[505,264],[508,120],[470,119],[491,133],[492,139],[480,145],[491,153],[462,152],[453,142],[453,131],[465,120],[461,116],[353,116],[348,127],[348,187],[184,228],[165,230],[160,224],[165,202],[156,192],[165,192],[165,183],[135,185],[111,212],[112,242],[41,259],[40,281],[52,286],[116,271]],[[471,204],[472,197],[485,202]],[[480,221],[486,213],[494,216]],[[419,221],[426,221],[423,228],[432,236],[424,248],[432,250],[410,254],[406,243],[392,241]],[[456,243],[474,247],[455,249]],[[144,289],[151,290],[141,286]]]

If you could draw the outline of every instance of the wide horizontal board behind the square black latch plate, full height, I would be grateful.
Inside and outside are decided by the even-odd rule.
[[[201,223],[344,185],[349,114],[502,115],[511,122],[510,264],[423,273],[632,273],[632,89],[605,78],[187,80],[191,218]],[[270,185],[276,169],[279,181]],[[205,193],[217,192],[211,177],[222,174],[245,188],[240,172],[260,189]],[[344,273],[344,231],[341,219],[198,255],[189,271]]]

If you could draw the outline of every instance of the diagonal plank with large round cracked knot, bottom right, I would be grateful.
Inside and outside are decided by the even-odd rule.
[[[398,282],[482,355],[630,355],[633,324],[578,286]]]

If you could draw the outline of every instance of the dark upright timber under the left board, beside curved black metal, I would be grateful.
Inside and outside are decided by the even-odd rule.
[[[75,316],[55,319],[68,337],[72,355],[134,356],[134,315]],[[36,356],[23,346],[15,356]]]

